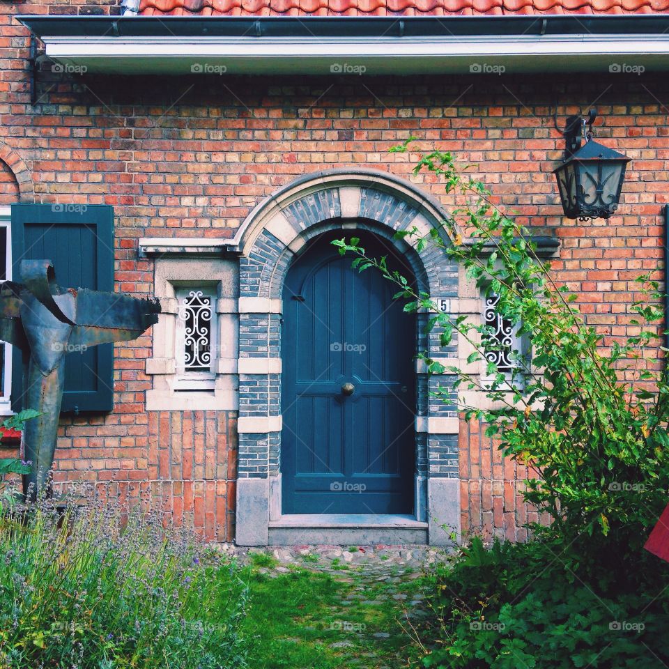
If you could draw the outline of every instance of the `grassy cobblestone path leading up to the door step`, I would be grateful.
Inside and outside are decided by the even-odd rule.
[[[253,569],[254,669],[419,667],[431,618],[428,546],[223,546]],[[281,620],[276,620],[280,618]]]

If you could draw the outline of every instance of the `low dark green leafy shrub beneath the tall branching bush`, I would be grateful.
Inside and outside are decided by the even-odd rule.
[[[622,547],[618,547],[619,549]],[[654,556],[629,578],[577,571],[548,541],[480,539],[435,576],[436,649],[424,666],[466,669],[661,669],[669,662],[669,586]]]

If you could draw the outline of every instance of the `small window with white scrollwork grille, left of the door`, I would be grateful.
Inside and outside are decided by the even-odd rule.
[[[176,388],[213,388],[217,357],[215,294],[209,289],[187,288],[176,291],[176,298]]]

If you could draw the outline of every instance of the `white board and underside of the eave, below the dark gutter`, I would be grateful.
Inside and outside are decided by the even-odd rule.
[[[42,40],[54,61],[109,74],[373,76],[669,70],[667,34],[364,39],[43,36]]]

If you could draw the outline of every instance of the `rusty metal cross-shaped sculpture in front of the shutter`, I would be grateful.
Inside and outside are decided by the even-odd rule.
[[[24,260],[21,282],[0,286],[0,340],[24,352],[24,406],[40,415],[26,422],[24,493],[45,491],[56,451],[65,355],[89,346],[136,339],[157,323],[160,303],[119,293],[61,289],[48,260]]]

